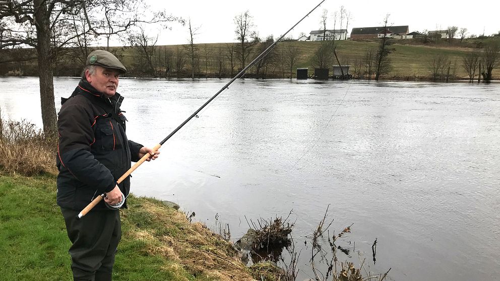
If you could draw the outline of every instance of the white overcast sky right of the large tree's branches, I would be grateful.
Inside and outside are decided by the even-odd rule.
[[[274,35],[275,39],[286,32],[307,12],[320,3],[296,0],[186,0],[153,1],[152,10],[165,9],[173,16],[186,20],[191,18],[194,27],[200,27],[195,43],[235,42],[234,16],[248,10],[253,16],[255,30],[260,37]],[[297,38],[301,32],[307,35],[311,30],[320,29],[323,9],[328,10],[327,29],[333,29],[333,13],[340,6],[351,13],[348,32],[353,27],[382,26],[386,14],[390,14],[392,25],[408,25],[410,32],[446,29],[448,26],[465,27],[469,35],[491,35],[500,31],[500,1],[344,1],[326,0],[315,12],[304,19],[289,35]],[[411,4],[410,4],[411,3]],[[477,11],[476,11],[477,10]],[[171,30],[150,29],[149,35],[160,34],[158,45],[185,44],[188,42],[188,28],[171,24]],[[337,23],[336,29],[340,25]],[[345,29],[345,21],[342,26]]]

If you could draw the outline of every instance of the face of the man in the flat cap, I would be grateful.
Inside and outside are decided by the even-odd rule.
[[[91,75],[87,69],[85,77],[90,85],[103,93],[106,98],[110,98],[116,94],[118,79],[120,77],[120,73],[116,69],[96,65],[95,73]]]

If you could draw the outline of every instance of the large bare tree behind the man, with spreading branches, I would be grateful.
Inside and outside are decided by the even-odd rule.
[[[122,0],[120,3],[135,3],[138,0]],[[0,33],[0,48],[5,46],[31,46],[36,49],[40,81],[40,101],[43,130],[48,135],[55,135],[56,114],[54,104],[53,61],[60,55],[63,47],[75,46],[81,31],[75,31],[71,22],[73,16],[84,14],[88,32],[96,35],[108,34],[99,30],[97,16],[103,7],[112,6],[115,1],[79,1],[79,0],[16,0],[0,1],[0,22],[8,23]],[[144,6],[141,6],[144,7]],[[140,9],[138,10],[140,11]],[[137,12],[137,11],[136,11]],[[137,14],[137,13],[136,13]],[[160,16],[165,16],[161,14]],[[123,28],[113,30],[114,34],[124,32],[137,23],[136,18],[122,16],[118,10],[116,19],[131,19],[122,22]],[[144,19],[144,18],[142,18]],[[172,18],[162,18],[171,21]],[[118,24],[118,25],[121,25]],[[104,27],[103,27],[104,28]],[[74,33],[75,31],[76,33]]]

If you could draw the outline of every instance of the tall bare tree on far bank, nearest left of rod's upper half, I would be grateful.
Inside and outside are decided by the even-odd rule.
[[[237,53],[241,65],[241,69],[246,66],[246,58],[250,55],[252,47],[258,43],[257,33],[254,31],[254,22],[252,16],[248,11],[241,13],[234,17],[234,24],[236,25],[236,39],[239,42],[239,49]]]

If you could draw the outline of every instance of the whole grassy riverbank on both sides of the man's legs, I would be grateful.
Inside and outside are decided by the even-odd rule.
[[[231,245],[183,213],[129,196],[113,280],[253,280]],[[0,175],[0,280],[70,280],[55,176]],[[85,219],[85,218],[84,218]]]

